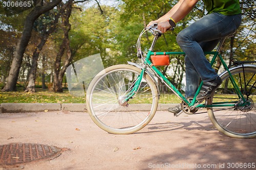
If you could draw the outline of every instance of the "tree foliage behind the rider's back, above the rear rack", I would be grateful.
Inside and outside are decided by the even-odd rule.
[[[232,37],[226,39],[221,52],[222,56],[228,61],[229,65],[231,65],[232,61],[234,60],[254,61],[256,58],[254,41],[256,31],[255,2],[242,1],[240,2],[240,7],[242,10],[241,26]],[[218,60],[216,71],[219,70],[220,66],[220,60]]]

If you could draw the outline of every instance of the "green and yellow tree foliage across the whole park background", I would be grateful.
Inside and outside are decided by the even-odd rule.
[[[72,48],[73,61],[75,62],[84,57],[100,53],[104,66],[126,63],[126,61],[139,62],[137,58],[136,42],[142,29],[148,22],[156,20],[172,8],[178,0],[123,0],[117,7],[101,5],[103,13],[98,6],[84,8],[74,6],[70,18],[71,31],[70,46]],[[0,2],[1,3],[1,2]],[[235,60],[255,60],[255,1],[242,1],[243,22],[234,39],[233,48],[230,49],[230,39],[225,41],[222,48],[223,57],[228,61],[230,50],[234,52]],[[56,10],[56,9],[54,9]],[[35,25],[35,29],[40,33],[42,27],[53,21],[56,15],[52,10],[48,14],[42,15]],[[0,75],[5,78],[8,75],[12,61],[15,45],[22,32],[24,20],[29,11],[18,15],[6,16],[3,6],[0,5],[0,35],[2,37],[0,45]],[[201,18],[205,13],[203,2],[199,1],[192,12],[181,20],[173,32],[163,34],[158,40],[155,51],[181,51],[176,43],[177,34],[190,25],[192,22]],[[24,65],[20,77],[26,81],[26,72],[30,64],[30,55],[37,44],[37,36],[33,34],[31,43],[27,47],[24,58]],[[144,54],[151,45],[153,36],[150,33],[144,34],[141,39],[141,47]],[[51,74],[54,58],[58,51],[57,47],[62,42],[62,30],[56,29],[48,39],[40,56],[47,58],[45,73]],[[181,85],[184,76],[184,56],[170,56],[171,63],[166,71],[166,76],[174,84]],[[38,70],[42,70],[41,61],[38,63]],[[165,71],[165,67],[160,67]],[[43,69],[44,70],[44,69]],[[41,74],[41,72],[40,72]],[[2,78],[2,77],[1,77]],[[40,79],[37,79],[40,81]],[[0,82],[3,79],[0,79]],[[50,80],[49,80],[50,81]],[[20,83],[22,84],[22,83]]]

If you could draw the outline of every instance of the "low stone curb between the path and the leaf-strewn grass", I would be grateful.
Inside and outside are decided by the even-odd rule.
[[[177,104],[158,104],[158,111],[166,111],[169,107]],[[143,111],[151,105],[139,104],[131,111]],[[23,112],[44,112],[44,111],[70,111],[87,112],[85,103],[2,103],[0,113],[23,113]]]

